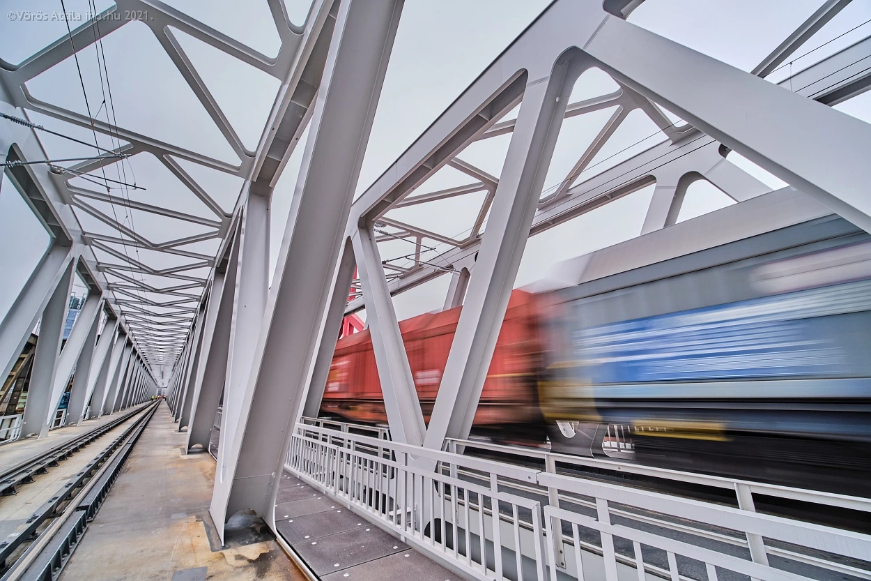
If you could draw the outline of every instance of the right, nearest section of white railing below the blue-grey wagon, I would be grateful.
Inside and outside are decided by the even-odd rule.
[[[699,502],[564,475],[543,474],[539,476],[539,482],[548,487],[585,497],[594,503],[595,512],[593,514],[589,514],[588,511],[584,514],[585,511],[578,509],[566,509],[563,508],[564,505],[561,505],[560,508],[556,506],[544,507],[549,537],[553,537],[555,531],[559,530],[564,538],[571,541],[569,544],[573,546],[574,550],[571,553],[567,551],[566,557],[568,558],[565,559],[564,568],[573,577],[579,579],[584,578],[584,568],[586,567],[583,557],[579,558],[579,556],[585,544],[584,538],[589,538],[589,533],[599,537],[597,539],[599,550],[596,552],[601,554],[604,561],[606,581],[618,581],[618,577],[620,577],[618,567],[621,565],[631,567],[631,564],[626,563],[627,561],[634,564],[636,571],[645,571],[647,567],[642,545],[665,552],[665,562],[663,563],[661,562],[661,554],[650,555],[653,553],[652,550],[645,551],[650,555],[647,557],[648,561],[655,562],[659,557],[660,563],[654,564],[655,568],[667,571],[668,578],[671,578],[672,581],[678,581],[681,577],[701,579],[702,581],[717,581],[719,576],[733,578],[729,575],[729,571],[760,581],[786,581],[787,579],[794,581],[796,578],[803,578],[803,576],[771,566],[764,552],[759,553],[753,550],[753,543],[750,546],[750,558],[741,557],[739,554],[736,555],[736,551],[725,550],[726,547],[723,545],[728,543],[722,540],[719,543],[712,543],[710,538],[665,535],[663,534],[665,530],[639,526],[641,523],[631,518],[635,512],[657,513],[683,519],[685,522],[697,525],[704,524],[708,528],[715,527],[720,534],[726,533],[725,536],[737,537],[743,534],[759,539],[765,537],[775,542],[793,545],[799,550],[806,550],[809,553],[827,554],[834,560],[847,557],[847,559],[866,561],[871,557],[871,537],[851,531],[803,523],[780,516],[761,515],[712,502]],[[566,504],[571,506],[570,503]],[[618,509],[615,510],[615,508]],[[623,541],[625,545],[631,543],[631,550],[622,551],[623,558],[618,558],[619,553],[615,548],[616,540]],[[553,543],[549,543],[548,548],[552,563],[557,558]],[[699,575],[699,571],[692,571],[693,569],[698,570],[699,566],[689,561],[683,563],[685,571],[680,571],[678,556],[703,564],[705,567],[704,575]],[[805,564],[809,565],[810,563],[806,562]],[[814,562],[814,566],[823,569],[828,568],[825,566],[826,564],[825,558],[818,558]],[[788,568],[793,569],[794,565]],[[726,573],[720,571],[718,576],[717,569],[725,570]],[[837,569],[840,567],[833,570]],[[868,574],[868,571],[861,571],[858,568],[851,569],[852,571],[846,574],[852,573],[856,576],[863,576],[857,575],[861,573]],[[841,572],[845,574],[845,571]],[[555,571],[551,571],[550,578],[552,581],[556,581]],[[641,578],[640,574],[638,578]]]

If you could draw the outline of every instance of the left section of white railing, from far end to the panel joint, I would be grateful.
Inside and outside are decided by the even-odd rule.
[[[419,467],[424,456],[443,470]],[[461,480],[461,467],[486,471],[490,482]],[[498,483],[535,482],[535,470],[305,424],[297,424],[287,468],[466,577],[544,579],[541,503]],[[535,556],[531,575],[526,553]]]

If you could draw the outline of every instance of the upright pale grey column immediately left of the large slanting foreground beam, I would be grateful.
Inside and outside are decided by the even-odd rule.
[[[242,400],[257,337],[263,322],[269,286],[269,194],[253,184],[248,192],[240,222],[240,248],[236,265],[233,319],[227,346],[224,405],[221,408],[218,444],[218,476],[226,478],[226,453],[233,447],[239,425]],[[230,287],[225,292],[232,291]]]

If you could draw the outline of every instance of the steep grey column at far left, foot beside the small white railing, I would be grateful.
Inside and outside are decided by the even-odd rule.
[[[33,372],[30,375],[30,388],[24,406],[24,426],[21,428],[21,433],[24,435],[38,434],[40,438],[44,437],[43,427],[51,413],[51,389],[57,377],[57,358],[64,336],[66,311],[70,304],[75,268],[76,261],[66,263],[64,273],[57,281],[43,311],[42,323],[39,325],[37,352],[33,359]]]

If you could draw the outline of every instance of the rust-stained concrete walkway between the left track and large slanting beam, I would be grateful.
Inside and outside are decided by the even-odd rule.
[[[161,404],[60,581],[305,579],[274,539],[212,550],[215,462],[182,455],[187,434],[176,429]]]

